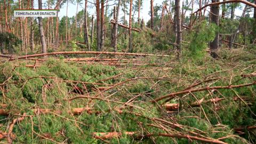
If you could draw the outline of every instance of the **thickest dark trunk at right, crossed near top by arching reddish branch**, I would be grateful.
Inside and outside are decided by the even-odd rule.
[[[219,2],[219,0],[212,0],[212,3]],[[219,26],[219,5],[212,5],[211,6],[211,22],[215,23],[217,26]],[[217,32],[214,41],[210,43],[210,50],[211,50],[211,56],[213,58],[217,58],[218,55],[216,53],[216,50],[219,46],[219,33]]]

